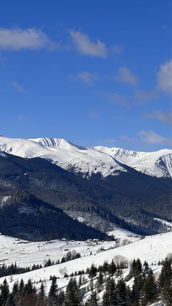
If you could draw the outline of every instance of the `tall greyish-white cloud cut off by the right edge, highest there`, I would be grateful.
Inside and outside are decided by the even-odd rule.
[[[171,60],[162,64],[157,73],[157,88],[169,95],[171,95],[171,65]]]

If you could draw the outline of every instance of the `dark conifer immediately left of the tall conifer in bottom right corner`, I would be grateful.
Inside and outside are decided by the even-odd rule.
[[[155,302],[157,297],[157,284],[152,269],[148,271],[140,294],[140,305],[146,306]]]

